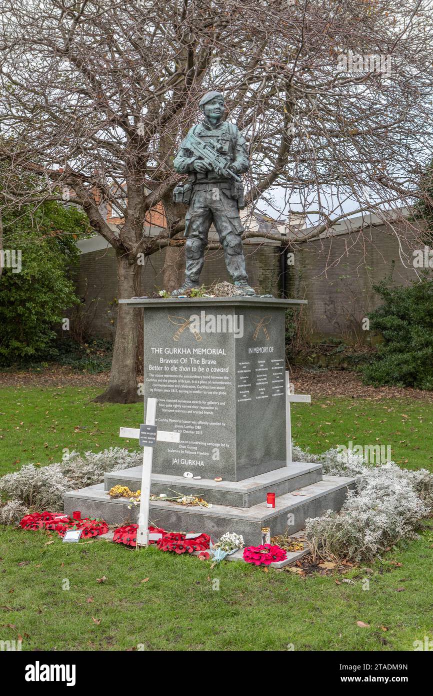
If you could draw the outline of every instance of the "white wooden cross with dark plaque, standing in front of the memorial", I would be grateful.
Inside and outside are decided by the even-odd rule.
[[[146,423],[155,425],[156,399],[147,399]],[[120,428],[120,437],[140,439],[140,428]],[[171,433],[168,430],[157,430],[156,441],[179,442],[180,433]],[[152,477],[152,459],[154,455],[153,445],[143,447],[143,466],[141,474],[140,511],[138,513],[137,548],[149,544],[149,502],[150,480]]]

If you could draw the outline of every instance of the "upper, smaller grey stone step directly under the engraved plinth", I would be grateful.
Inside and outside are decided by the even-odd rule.
[[[118,484],[131,491],[141,487],[141,466],[111,471],[105,474],[104,488],[109,491]],[[157,474],[152,472],[151,492],[156,496],[165,493],[169,498],[175,493],[183,496],[200,496],[206,503],[229,505],[230,507],[252,507],[265,503],[266,493],[283,496],[296,489],[322,480],[320,464],[293,462],[289,466],[268,471],[243,481],[214,481],[213,479],[193,479],[183,476]]]

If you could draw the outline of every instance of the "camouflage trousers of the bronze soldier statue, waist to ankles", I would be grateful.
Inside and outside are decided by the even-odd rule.
[[[204,264],[204,248],[211,224],[218,232],[227,271],[234,281],[247,280],[238,201],[231,198],[231,185],[196,184],[185,216],[186,278],[197,283]]]

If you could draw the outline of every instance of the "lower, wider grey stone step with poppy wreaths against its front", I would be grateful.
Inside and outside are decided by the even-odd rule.
[[[293,534],[304,528],[308,517],[317,517],[327,509],[338,511],[343,505],[353,478],[324,476],[322,481],[278,496],[275,508],[266,503],[252,507],[182,507],[176,503],[151,500],[149,524],[174,531],[206,532],[218,539],[225,532],[236,532],[245,544],[261,544],[261,530],[270,528],[271,536]],[[65,513],[80,510],[82,516],[102,517],[110,524],[136,522],[138,507],[131,507],[125,498],[111,499],[104,484],[65,493]]]

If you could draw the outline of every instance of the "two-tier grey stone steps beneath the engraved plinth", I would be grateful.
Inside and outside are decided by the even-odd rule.
[[[102,517],[110,524],[138,521],[138,507],[129,509],[129,500],[112,500],[108,491],[116,484],[131,491],[140,487],[141,467],[105,475],[105,483],[65,493],[65,513],[81,510],[83,516]],[[236,532],[245,544],[261,544],[261,530],[270,527],[272,536],[302,530],[307,517],[327,509],[339,510],[354,479],[323,476],[317,464],[297,464],[261,474],[241,482],[186,480],[180,476],[152,475],[152,493],[174,496],[194,493],[212,507],[184,507],[151,500],[149,524],[177,532],[206,532],[216,541],[225,532]],[[277,493],[275,508],[266,505],[266,493]],[[257,502],[260,500],[260,502]],[[215,502],[219,501],[219,502]]]

